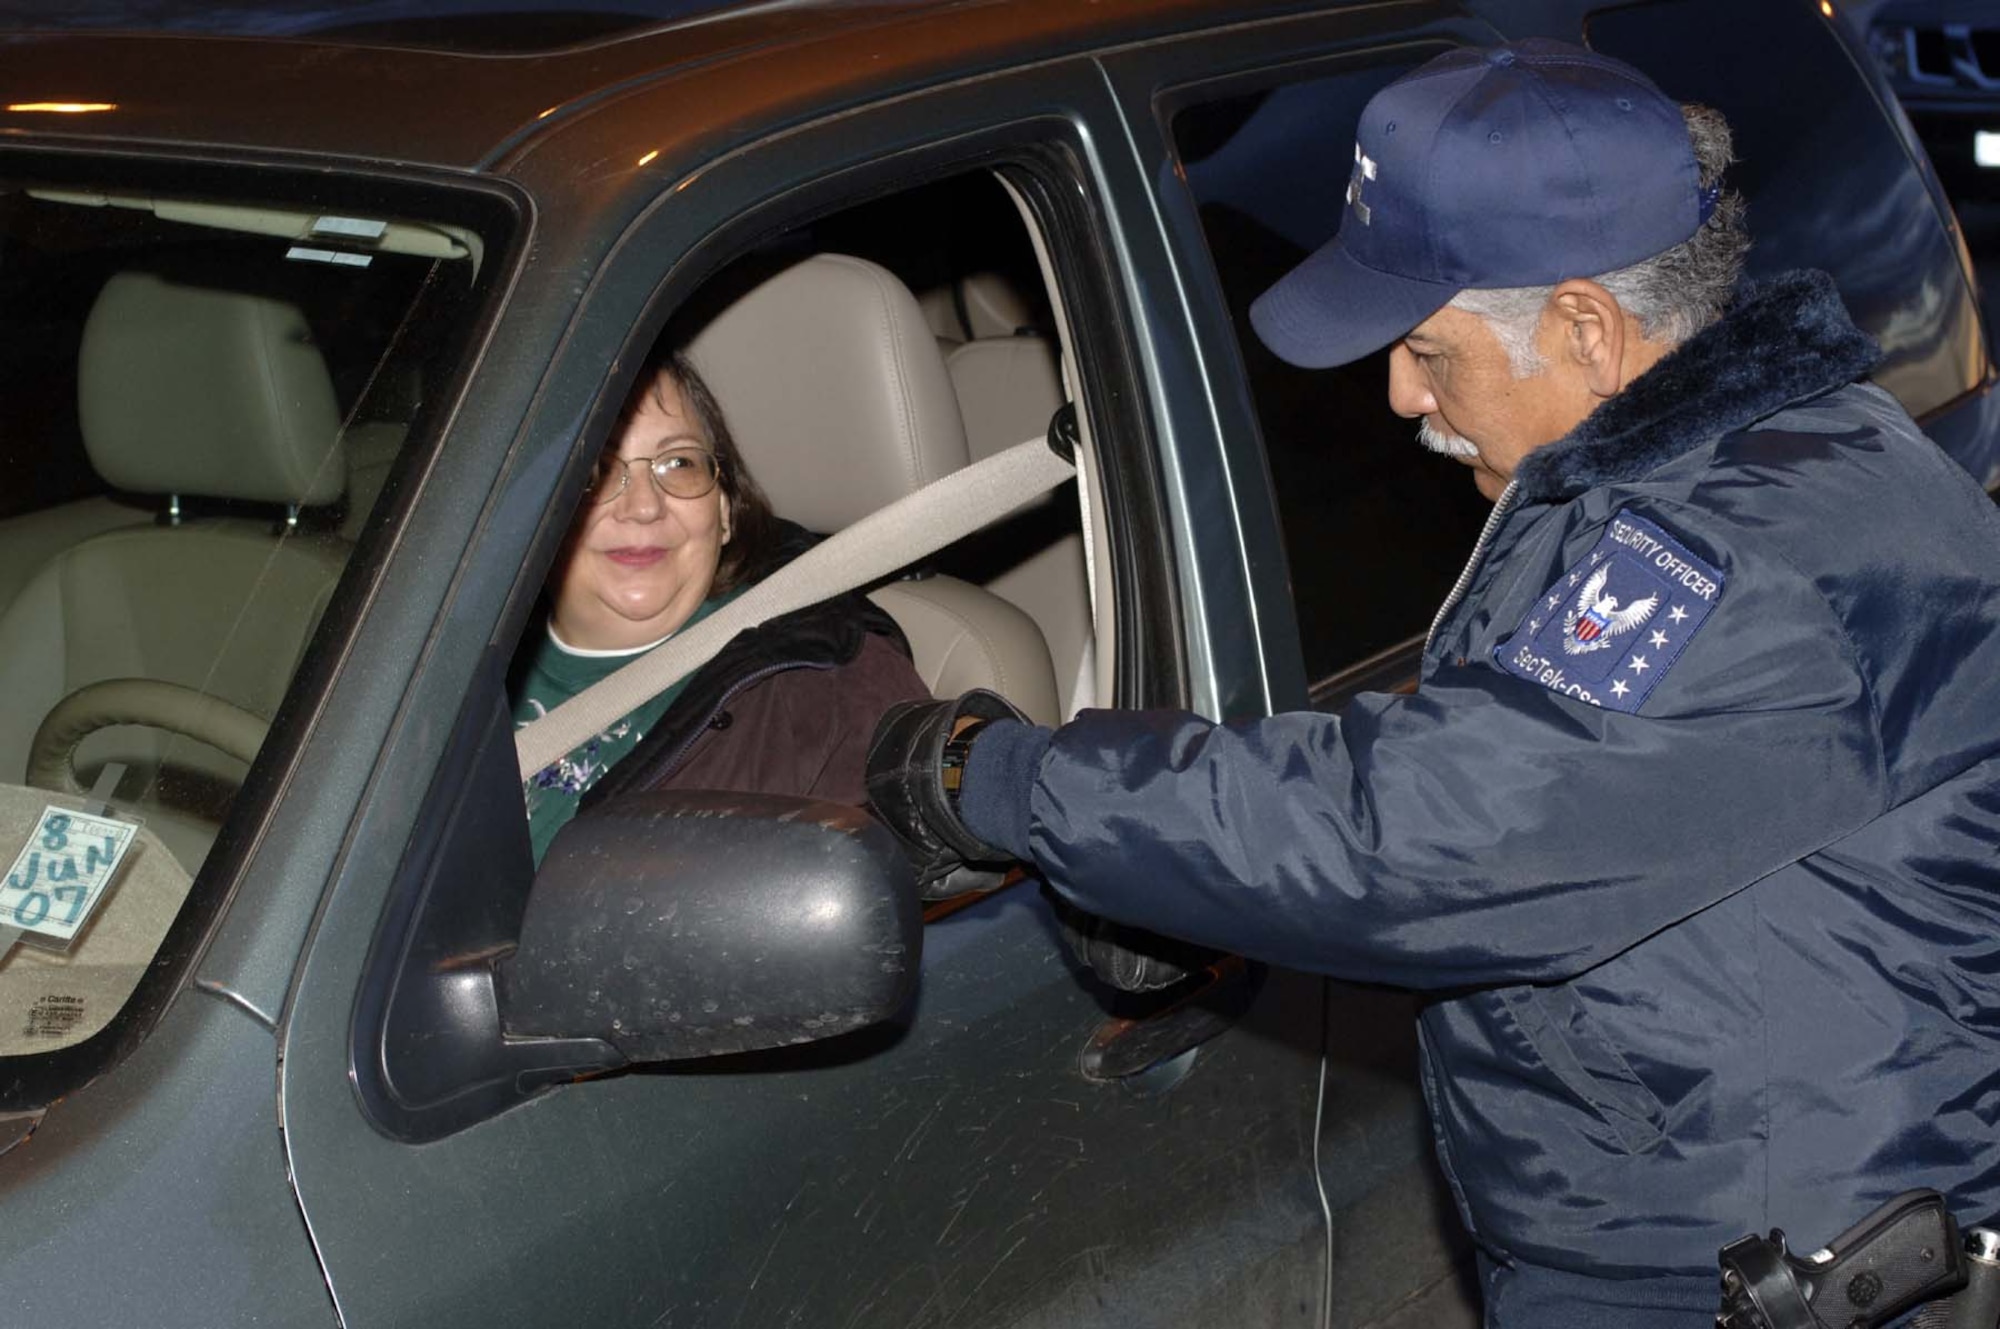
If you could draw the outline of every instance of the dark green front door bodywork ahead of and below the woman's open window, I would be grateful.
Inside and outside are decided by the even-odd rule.
[[[412,809],[436,807],[390,797],[414,775],[402,755],[444,763],[430,789],[462,779],[430,717],[460,715],[488,640],[512,636],[488,626],[506,574],[534,564],[530,536],[536,548],[560,536],[540,512],[564,502],[556,468],[596,408],[602,366],[634,326],[650,334],[662,280],[692,280],[662,278],[674,254],[840,160],[936,142],[954,122],[972,132],[1010,104],[1044,118],[1068,106],[1072,122],[1086,118],[1076,106],[1104,108],[1080,62],[1020,82],[1006,98],[988,84],[940,94],[924,116],[854,116],[736,154],[676,190],[674,212],[628,198],[582,220],[544,210],[542,266],[510,316],[546,318],[558,290],[574,296],[568,278],[536,280],[578,266],[552,258],[566,244],[642,220],[590,282],[520,434],[528,450],[464,552],[284,1027],[294,1175],[346,1323],[1146,1323],[1162,1307],[1194,1323],[1246,1297],[1274,1321],[1318,1313],[1324,1221],[1308,1159],[1322,985],[1272,975],[1178,1065],[1092,1083],[1078,1057],[1108,999],[1062,959],[1032,885],[934,923],[914,1007],[844,1041],[562,1085],[428,1143],[376,1129],[350,1083],[354,991],[396,875],[384,847],[410,839]],[[544,146],[528,164],[550,170],[556,156]],[[450,843],[436,853],[456,861]],[[1384,1119],[1414,1165],[1414,1101]]]

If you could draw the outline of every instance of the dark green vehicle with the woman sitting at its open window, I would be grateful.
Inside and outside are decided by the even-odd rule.
[[[1868,54],[1810,2],[502,8],[0,42],[6,1323],[1476,1323],[1416,997],[1118,991],[826,805],[612,801],[538,873],[508,671],[672,338],[822,534],[1068,440],[868,582],[940,695],[1408,687],[1482,504],[1382,356],[1246,310],[1366,98],[1516,36],[1722,108],[1754,272],[1830,270],[1992,488]]]

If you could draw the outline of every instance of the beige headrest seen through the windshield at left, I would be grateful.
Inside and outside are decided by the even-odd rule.
[[[116,488],[308,506],[346,492],[334,382],[284,300],[120,272],[84,324],[76,396]]]

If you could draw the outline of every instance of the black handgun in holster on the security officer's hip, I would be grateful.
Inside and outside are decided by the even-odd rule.
[[[1772,1229],[1720,1261],[1716,1329],[1874,1329],[1914,1307],[1908,1329],[2000,1327],[2000,1233],[1960,1237],[1936,1191],[1904,1191],[1806,1257]]]

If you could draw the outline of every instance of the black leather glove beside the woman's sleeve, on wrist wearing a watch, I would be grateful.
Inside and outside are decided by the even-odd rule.
[[[868,745],[868,803],[896,833],[926,901],[1000,885],[1014,855],[966,831],[944,789],[944,745],[964,719],[1022,721],[998,693],[974,689],[954,701],[904,701],[882,713]],[[982,863],[988,869],[968,869]]]

